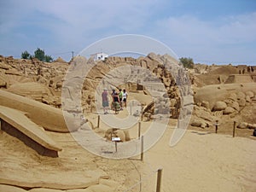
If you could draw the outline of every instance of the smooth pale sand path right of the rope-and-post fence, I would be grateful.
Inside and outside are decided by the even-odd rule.
[[[125,115],[126,111],[118,114]],[[96,124],[96,114],[90,117]],[[150,124],[143,121],[143,133]],[[139,170],[142,183],[132,184],[131,191],[155,191],[159,168],[163,169],[161,191],[255,191],[255,140],[239,137],[241,130],[236,137],[232,137],[232,131],[215,134],[212,126],[204,131],[186,131],[171,148],[175,124],[176,120],[171,119],[165,135],[144,154]],[[101,129],[108,127],[102,123]],[[131,128],[130,135],[137,138],[137,126]]]

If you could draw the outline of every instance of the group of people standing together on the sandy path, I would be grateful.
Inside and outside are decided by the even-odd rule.
[[[112,103],[111,108],[114,110],[115,113],[119,113],[120,110],[123,110],[123,104],[126,108],[126,101],[128,98],[128,94],[126,90],[119,89],[119,92],[116,90],[112,90]],[[108,114],[109,102],[108,102],[108,89],[104,89],[102,92],[102,107],[104,110],[104,114]]]

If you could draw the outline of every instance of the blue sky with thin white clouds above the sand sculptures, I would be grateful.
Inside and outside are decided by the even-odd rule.
[[[201,63],[256,65],[256,0],[0,1],[0,55],[44,49],[69,61],[113,35],[139,34]]]

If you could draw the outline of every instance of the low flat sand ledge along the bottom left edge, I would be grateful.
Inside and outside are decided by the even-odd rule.
[[[48,172],[47,174],[26,172],[26,177],[23,175],[11,174],[10,172],[3,172],[3,174],[1,173],[0,175],[0,183],[26,188],[67,190],[88,188],[98,184],[99,180],[102,178],[108,178],[108,175],[100,169],[84,172]]]

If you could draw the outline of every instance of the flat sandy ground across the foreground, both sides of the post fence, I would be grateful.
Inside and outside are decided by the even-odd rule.
[[[116,116],[125,118],[128,113],[129,108]],[[98,113],[90,113],[87,118],[96,125],[97,116]],[[161,191],[256,190],[255,140],[233,138],[221,131],[215,134],[212,127],[205,131],[186,131],[180,142],[171,148],[169,142],[176,122],[170,119],[164,136],[145,152],[143,161],[138,160],[139,156],[124,160],[102,158],[82,148],[71,134],[49,131],[49,137],[63,150],[59,158],[44,157],[1,131],[0,178],[2,183],[6,179],[11,180],[12,185],[30,186],[25,188],[28,190],[32,183],[50,183],[52,188],[61,189],[63,183],[78,187],[84,183],[95,184],[94,177],[104,177],[116,185],[114,191],[148,192],[155,191],[157,170],[162,168]],[[151,123],[142,122],[142,134]],[[109,127],[102,121],[100,125],[95,131],[103,136]],[[131,127],[130,135],[131,139],[137,139],[137,125]]]

